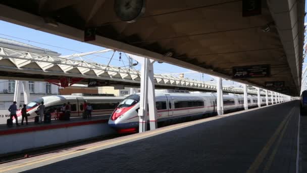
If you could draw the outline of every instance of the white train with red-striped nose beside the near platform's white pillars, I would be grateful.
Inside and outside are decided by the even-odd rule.
[[[262,104],[265,105],[266,98],[261,97],[261,99]],[[119,133],[137,132],[139,100],[139,94],[130,95],[122,100],[112,113],[109,125],[117,129]],[[257,96],[248,96],[247,102],[248,107],[258,106]],[[269,103],[271,103],[271,98],[269,98]],[[224,112],[243,109],[243,95],[225,94],[223,104]],[[202,117],[206,114],[214,115],[217,112],[217,95],[216,93],[156,90],[156,107],[158,123],[187,117]],[[147,116],[149,116],[148,113]]]

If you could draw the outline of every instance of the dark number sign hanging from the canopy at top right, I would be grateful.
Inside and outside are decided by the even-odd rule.
[[[262,0],[243,0],[242,16],[248,17],[261,15],[261,1]]]

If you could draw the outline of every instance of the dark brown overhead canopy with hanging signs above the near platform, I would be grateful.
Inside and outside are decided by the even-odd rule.
[[[3,0],[0,19],[297,96],[304,2]]]

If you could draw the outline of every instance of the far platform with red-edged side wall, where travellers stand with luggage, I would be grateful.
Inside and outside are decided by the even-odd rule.
[[[14,123],[13,127],[1,124],[0,156],[115,134],[107,123],[109,117],[110,114],[93,115],[88,119],[71,117],[68,121],[52,119],[51,123],[32,120],[28,125]]]

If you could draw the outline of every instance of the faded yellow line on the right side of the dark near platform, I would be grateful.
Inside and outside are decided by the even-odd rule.
[[[281,132],[284,124],[286,123],[287,119],[290,117],[290,115],[293,112],[293,109],[289,112],[289,114],[283,119],[283,121],[280,123],[278,128],[276,129],[273,136],[270,138],[270,140],[267,142],[267,144],[264,146],[264,148],[261,150],[261,152],[258,154],[257,158],[254,160],[254,162],[250,165],[246,173],[253,173],[256,172],[259,168],[260,164],[263,162],[264,158],[268,154],[270,148],[272,147],[273,143],[276,141],[276,138],[278,137],[279,133]]]

